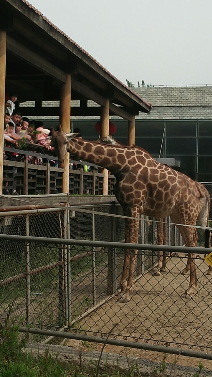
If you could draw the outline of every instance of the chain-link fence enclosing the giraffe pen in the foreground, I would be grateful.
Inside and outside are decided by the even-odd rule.
[[[0,217],[0,318],[12,307],[15,320],[22,318],[25,325],[36,328],[212,350],[212,281],[205,274],[201,249],[196,257],[197,294],[183,299],[188,278],[181,275],[187,257],[180,248],[180,234],[167,218],[170,248],[159,250],[179,248],[171,250],[167,272],[154,276],[158,253],[152,245],[157,244],[157,227],[153,219],[142,216],[135,293],[129,302],[118,302],[126,248],[114,243],[124,240],[121,207],[84,207],[84,211],[54,208]],[[62,239],[70,241],[64,244]],[[43,336],[32,339],[41,341]]]

